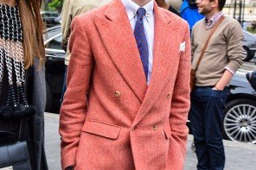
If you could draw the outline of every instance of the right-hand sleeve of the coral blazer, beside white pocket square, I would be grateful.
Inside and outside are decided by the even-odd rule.
[[[186,154],[187,137],[189,134],[189,129],[186,126],[186,123],[188,120],[188,112],[190,107],[189,78],[191,66],[191,49],[188,24],[186,24],[184,30],[186,31],[183,41],[185,41],[186,46],[185,51],[182,52],[180,57],[170,108],[171,135],[181,146],[183,156]]]

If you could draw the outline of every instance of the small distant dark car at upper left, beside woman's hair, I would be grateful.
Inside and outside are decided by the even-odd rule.
[[[46,27],[53,27],[56,24],[60,24],[59,22],[55,22],[55,19],[60,16],[57,12],[52,11],[42,11],[41,12],[42,21],[45,23]]]

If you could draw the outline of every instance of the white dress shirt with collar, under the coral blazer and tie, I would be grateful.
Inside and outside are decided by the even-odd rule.
[[[140,6],[137,3],[132,2],[131,0],[122,0],[122,3],[125,6],[125,10],[129,21],[131,23],[131,28],[134,32],[135,24],[137,22],[137,10]],[[152,66],[153,66],[153,46],[154,46],[154,0],[151,0],[149,3],[143,6],[146,9],[146,17],[144,17],[144,32],[149,46],[149,71],[147,85],[150,84]]]

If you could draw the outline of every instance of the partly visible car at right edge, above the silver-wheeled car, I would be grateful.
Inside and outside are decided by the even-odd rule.
[[[243,47],[246,52],[246,58],[244,61],[252,60],[256,53],[256,35],[243,30],[244,33],[244,40],[243,40]]]

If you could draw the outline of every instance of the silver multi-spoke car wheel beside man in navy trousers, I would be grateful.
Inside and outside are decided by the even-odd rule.
[[[240,98],[227,103],[224,111],[223,135],[237,142],[256,144],[256,103]]]

